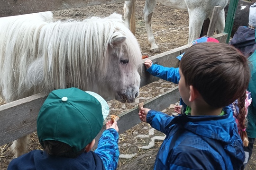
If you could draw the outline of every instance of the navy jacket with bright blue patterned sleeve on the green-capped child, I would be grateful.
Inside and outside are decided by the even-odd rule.
[[[77,158],[64,158],[34,150],[12,160],[7,170],[116,170],[118,139],[118,132],[110,128],[102,133],[94,152],[82,153]]]

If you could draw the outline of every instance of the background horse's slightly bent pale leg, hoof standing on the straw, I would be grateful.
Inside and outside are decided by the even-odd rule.
[[[145,6],[143,9],[143,16],[145,21],[147,40],[148,40],[148,44],[150,45],[150,51],[160,52],[158,46],[155,43],[155,38],[154,38],[152,27],[151,27],[151,18],[152,18],[155,5],[156,5],[156,0],[146,0]]]

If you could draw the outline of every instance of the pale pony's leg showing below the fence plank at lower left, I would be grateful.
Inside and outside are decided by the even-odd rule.
[[[29,143],[29,136],[23,136],[15,141],[11,145],[11,150],[14,156],[17,158],[24,153],[27,153],[27,144]]]

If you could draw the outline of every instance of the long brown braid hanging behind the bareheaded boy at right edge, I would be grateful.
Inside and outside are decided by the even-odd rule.
[[[247,133],[245,131],[246,130],[246,122],[247,122],[247,119],[246,119],[247,111],[246,111],[246,107],[245,107],[246,97],[247,97],[247,93],[245,91],[245,93],[240,98],[238,98],[239,114],[237,116],[237,119],[238,119],[238,129],[240,129],[241,139],[243,141],[244,146],[247,147],[249,141],[248,141]]]

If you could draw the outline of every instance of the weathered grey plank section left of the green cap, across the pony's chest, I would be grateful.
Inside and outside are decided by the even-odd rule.
[[[37,115],[46,94],[35,94],[0,106],[0,145],[37,131]]]

